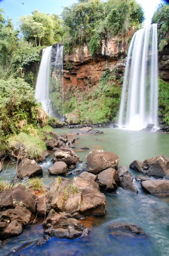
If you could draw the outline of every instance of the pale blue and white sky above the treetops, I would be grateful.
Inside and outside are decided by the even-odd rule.
[[[16,25],[18,17],[29,15],[36,9],[46,14],[55,13],[60,15],[63,6],[68,6],[76,2],[77,0],[0,0],[0,8],[6,10],[6,15],[13,18],[13,22]],[[149,25],[160,0],[137,0],[137,2],[144,9],[146,17],[145,25]]]

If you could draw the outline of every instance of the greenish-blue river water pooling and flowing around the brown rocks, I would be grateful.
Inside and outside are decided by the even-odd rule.
[[[160,133],[122,131],[119,129],[101,129],[103,135],[83,136],[78,148],[88,146],[90,149],[79,151],[78,155],[85,161],[93,145],[100,145],[104,150],[113,151],[120,157],[120,165],[127,165],[135,160],[144,160],[160,153],[169,156],[169,136]],[[57,129],[58,135],[69,130]],[[78,135],[81,138],[81,136]],[[97,141],[96,138],[104,140]],[[93,143],[93,140],[95,142]],[[76,146],[76,145],[75,145]],[[99,148],[99,147],[98,147]],[[48,168],[52,165],[53,153],[48,163],[42,163],[45,184],[54,180]],[[14,175],[14,164],[8,166],[6,173]],[[77,169],[84,169],[84,165]],[[131,170],[130,170],[131,171]],[[131,171],[132,175],[139,174]],[[68,176],[72,179],[74,173]],[[3,176],[3,173],[0,174]],[[168,256],[169,255],[169,197],[147,195],[141,189],[140,182],[134,180],[138,194],[130,194],[121,188],[114,193],[106,193],[107,212],[101,218],[87,218],[82,221],[90,229],[87,238],[74,240],[49,239],[39,246],[43,239],[41,222],[30,225],[24,232],[3,242],[0,248],[2,256]],[[128,222],[141,227],[145,234],[135,235],[124,230],[108,230],[112,222]]]

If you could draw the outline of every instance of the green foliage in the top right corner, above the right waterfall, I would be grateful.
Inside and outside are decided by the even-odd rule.
[[[157,10],[152,17],[152,23],[158,23],[163,20],[169,20],[169,4],[166,4],[165,1],[161,1],[158,5]]]

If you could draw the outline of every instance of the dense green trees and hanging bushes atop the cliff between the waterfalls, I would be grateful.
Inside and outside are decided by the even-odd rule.
[[[144,12],[135,0],[79,0],[62,12],[63,44],[70,52],[76,44],[90,44],[94,55],[101,39],[128,32],[131,26],[140,26]]]

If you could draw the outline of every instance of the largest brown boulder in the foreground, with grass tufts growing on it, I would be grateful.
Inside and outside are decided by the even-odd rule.
[[[71,181],[62,180],[53,195],[51,208],[72,216],[102,216],[106,211],[105,195],[91,178],[74,177]]]

